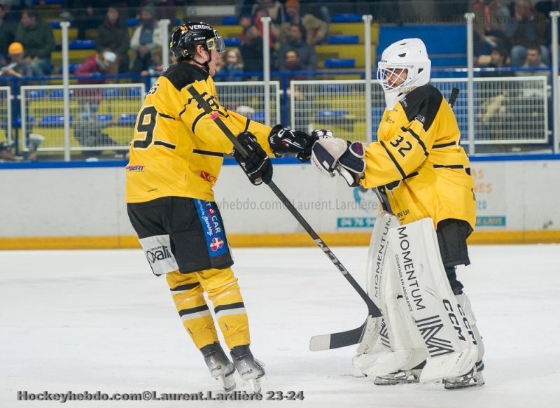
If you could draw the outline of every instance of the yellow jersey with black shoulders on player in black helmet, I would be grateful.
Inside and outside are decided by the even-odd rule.
[[[204,69],[174,64],[151,87],[138,114],[126,168],[128,203],[160,197],[214,201],[212,188],[233,145],[188,92],[190,84],[233,134],[252,132],[272,156],[270,127],[221,106],[214,80]]]

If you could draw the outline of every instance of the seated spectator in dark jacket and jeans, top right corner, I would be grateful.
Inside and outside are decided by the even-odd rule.
[[[550,55],[545,47],[548,19],[535,11],[528,0],[515,2],[515,15],[507,28],[507,36],[514,44],[510,51],[511,66],[521,66],[527,55],[527,48],[540,47],[542,61],[550,64]]]

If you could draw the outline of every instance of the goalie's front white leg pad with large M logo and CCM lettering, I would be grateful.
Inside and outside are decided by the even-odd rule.
[[[433,220],[423,218],[395,227],[388,236],[402,295],[429,355],[420,382],[468,373],[477,361],[478,347],[449,286]]]

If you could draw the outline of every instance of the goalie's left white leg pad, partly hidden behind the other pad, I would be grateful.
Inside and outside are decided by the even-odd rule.
[[[354,356],[353,367],[377,376],[414,367],[426,359],[416,326],[402,309],[400,283],[395,280],[388,232],[400,225],[398,218],[381,211],[372,232],[367,256],[367,291],[384,315],[366,332]],[[411,365],[412,364],[412,365]]]

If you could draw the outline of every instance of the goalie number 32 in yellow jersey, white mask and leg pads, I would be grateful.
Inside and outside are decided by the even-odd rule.
[[[388,209],[376,220],[372,248],[381,244],[379,251],[370,248],[377,266],[368,267],[367,276],[383,317],[370,344],[364,336],[353,366],[378,385],[481,386],[484,345],[456,277],[457,265],[470,264],[475,183],[454,113],[428,85],[430,68],[419,38],[386,48],[377,70],[386,101],[377,141],[363,146],[324,137],[314,144],[311,162],[353,187],[377,188]],[[387,241],[391,255],[377,258]]]

